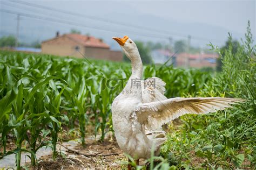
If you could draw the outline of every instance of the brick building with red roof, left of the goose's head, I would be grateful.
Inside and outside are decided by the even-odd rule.
[[[42,53],[59,56],[75,56],[83,58],[79,52],[88,58],[122,61],[121,51],[111,51],[110,46],[92,36],[81,34],[64,34],[42,42]]]

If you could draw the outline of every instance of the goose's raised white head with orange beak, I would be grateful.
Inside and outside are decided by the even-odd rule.
[[[138,48],[136,44],[128,37],[124,36],[123,38],[112,37],[114,40],[118,42],[120,47],[123,49],[127,58],[131,61],[137,60],[140,58]]]

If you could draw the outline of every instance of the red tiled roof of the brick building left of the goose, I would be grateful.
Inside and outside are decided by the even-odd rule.
[[[65,34],[64,36],[77,41],[79,44],[82,44],[85,47],[110,48],[110,46],[104,43],[102,40],[92,36],[84,36],[81,34]]]

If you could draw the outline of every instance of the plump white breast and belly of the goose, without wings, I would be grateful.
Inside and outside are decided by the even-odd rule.
[[[130,77],[133,78],[138,79]],[[127,83],[123,93],[112,103],[113,129],[117,143],[125,153],[133,158],[149,158],[152,141],[147,138],[143,124],[136,121],[136,110],[142,104],[142,89],[130,86],[131,83]]]

